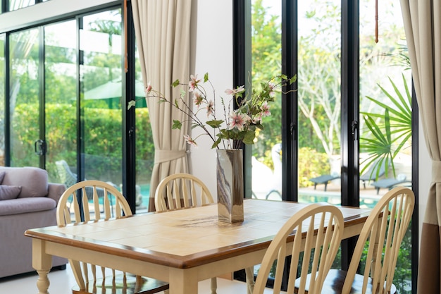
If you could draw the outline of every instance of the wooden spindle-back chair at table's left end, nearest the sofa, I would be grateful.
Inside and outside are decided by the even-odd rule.
[[[92,191],[92,202],[86,191]],[[97,191],[104,191],[104,197],[99,197]],[[71,198],[71,199],[70,199]],[[70,204],[70,207],[69,205]],[[112,204],[112,205],[111,205]],[[131,216],[128,202],[125,197],[109,183],[99,180],[85,180],[70,186],[58,202],[56,221],[58,226],[68,223],[81,223],[82,221],[97,221],[119,219]],[[168,283],[154,278],[134,276],[111,269],[112,276],[106,278],[106,269],[101,267],[102,278],[97,279],[97,266],[69,259],[77,286],[73,293],[133,293],[150,294],[168,289]],[[91,276],[92,275],[92,276]]]

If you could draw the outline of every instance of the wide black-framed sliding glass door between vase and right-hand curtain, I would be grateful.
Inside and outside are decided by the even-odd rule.
[[[411,186],[411,73],[399,5],[378,4],[376,36],[375,1],[243,3],[245,80],[297,73],[297,91],[276,97],[269,128],[246,154],[252,197],[372,208],[395,185]],[[407,251],[400,293],[411,291]]]

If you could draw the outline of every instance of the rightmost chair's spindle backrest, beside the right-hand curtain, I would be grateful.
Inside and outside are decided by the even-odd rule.
[[[415,196],[409,188],[388,191],[375,204],[357,240],[342,293],[349,293],[362,256],[366,257],[362,293],[390,293],[399,247],[414,211]],[[364,254],[365,247],[367,252]],[[365,258],[363,258],[365,260]]]

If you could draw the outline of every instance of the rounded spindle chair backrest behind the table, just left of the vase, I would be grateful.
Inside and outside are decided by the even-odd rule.
[[[159,183],[155,192],[157,212],[213,203],[209,188],[189,173],[175,173]]]

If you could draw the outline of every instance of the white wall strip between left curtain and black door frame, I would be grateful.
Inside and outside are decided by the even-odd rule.
[[[218,98],[225,89],[232,88],[232,1],[199,0],[193,5],[192,12],[196,17],[192,18],[194,49],[191,60],[194,68],[190,71],[197,73],[199,78],[204,78],[208,72]],[[221,104],[218,99],[216,106],[219,111]],[[205,119],[204,114],[201,116]],[[218,119],[222,118],[218,114]],[[190,147],[190,169],[216,197],[216,151],[211,149],[213,142],[204,136],[199,137],[197,144],[197,148]]]

